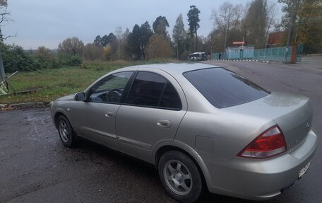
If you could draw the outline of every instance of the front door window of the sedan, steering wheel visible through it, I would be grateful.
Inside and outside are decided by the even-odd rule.
[[[98,103],[119,103],[133,71],[106,76],[91,88],[89,100]]]

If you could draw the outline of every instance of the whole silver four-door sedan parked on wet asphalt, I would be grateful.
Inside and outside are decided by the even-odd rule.
[[[129,66],[52,104],[65,146],[83,137],[153,163],[180,202],[203,189],[280,195],[311,164],[312,115],[309,98],[266,91],[209,64]]]

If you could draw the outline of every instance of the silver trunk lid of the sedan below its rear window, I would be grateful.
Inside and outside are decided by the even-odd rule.
[[[274,120],[282,129],[289,152],[297,149],[306,139],[313,117],[309,98],[285,93],[270,93],[264,98],[226,110]]]

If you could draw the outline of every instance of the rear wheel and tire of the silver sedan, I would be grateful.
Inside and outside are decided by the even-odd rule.
[[[195,202],[201,195],[201,174],[186,154],[167,151],[160,158],[158,172],[166,192],[179,202]]]

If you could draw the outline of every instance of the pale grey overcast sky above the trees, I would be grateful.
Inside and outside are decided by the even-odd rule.
[[[245,5],[251,0],[232,0],[232,4]],[[201,11],[198,35],[207,36],[213,30],[212,9],[218,9],[225,0],[8,0],[12,22],[1,27],[4,35],[16,35],[5,40],[26,50],[45,46],[56,49],[59,42],[76,36],[86,44],[97,35],[115,34],[115,28],[131,31],[135,24],[148,21],[152,27],[157,16],[165,16],[172,33],[174,23],[182,13],[186,30],[186,13],[196,5]]]

